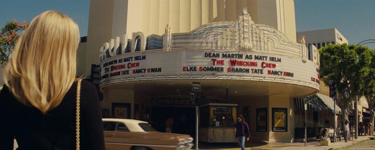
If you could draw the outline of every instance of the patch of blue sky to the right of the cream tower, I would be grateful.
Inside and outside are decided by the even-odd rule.
[[[350,44],[375,38],[375,0],[294,0],[294,7],[297,32],[336,28]]]

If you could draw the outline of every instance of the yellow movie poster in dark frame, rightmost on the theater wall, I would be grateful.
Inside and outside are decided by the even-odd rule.
[[[272,131],[288,132],[287,108],[272,108]]]

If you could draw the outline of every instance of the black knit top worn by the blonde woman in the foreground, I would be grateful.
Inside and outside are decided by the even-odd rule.
[[[0,150],[74,150],[76,147],[76,93],[74,82],[59,106],[43,115],[35,107],[24,106],[7,86],[0,93]],[[103,123],[96,88],[81,84],[80,148],[104,150]]]

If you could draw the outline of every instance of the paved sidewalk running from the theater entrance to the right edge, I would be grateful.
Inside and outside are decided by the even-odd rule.
[[[359,136],[358,139],[348,140],[345,143],[344,139],[342,141],[337,141],[336,143],[331,143],[330,146],[321,146],[319,140],[308,141],[306,143],[284,143],[284,142],[269,142],[269,141],[248,141],[245,143],[246,150],[335,150],[344,147],[352,146],[354,144],[359,144],[374,138],[371,136]],[[351,139],[351,138],[350,138]],[[240,150],[236,144],[208,144],[199,143],[199,150]]]

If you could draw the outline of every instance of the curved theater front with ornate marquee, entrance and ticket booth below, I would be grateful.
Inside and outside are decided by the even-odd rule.
[[[236,142],[228,136],[235,134],[236,115],[243,114],[251,139],[293,142],[293,98],[320,90],[313,48],[309,53],[303,37],[294,43],[275,28],[254,24],[247,9],[236,22],[213,22],[189,33],[172,33],[166,25],[163,35],[109,39],[100,56],[104,117],[145,120],[160,132],[174,117],[175,133],[195,137],[195,103],[189,99],[195,93],[199,141]]]

